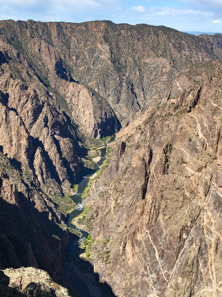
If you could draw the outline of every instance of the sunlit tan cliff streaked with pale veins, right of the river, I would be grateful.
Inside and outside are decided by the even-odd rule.
[[[191,67],[91,185],[90,257],[116,296],[222,296],[221,85],[221,62]]]

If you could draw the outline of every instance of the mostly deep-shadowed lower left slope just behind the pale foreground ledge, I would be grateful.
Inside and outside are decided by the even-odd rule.
[[[66,283],[62,254],[69,232],[65,216],[1,152],[0,234],[1,269],[32,266],[48,271],[60,284]]]

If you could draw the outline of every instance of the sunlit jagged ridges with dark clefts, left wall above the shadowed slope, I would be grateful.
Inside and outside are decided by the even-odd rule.
[[[0,47],[11,61],[1,65],[0,76],[0,143],[4,154],[20,162],[41,185],[72,186],[84,166],[78,159],[84,157],[84,149],[76,125],[58,110],[28,61],[4,42]],[[15,59],[15,55],[20,58]],[[20,69],[17,75],[16,68]],[[47,169],[44,179],[38,169],[42,162]]]

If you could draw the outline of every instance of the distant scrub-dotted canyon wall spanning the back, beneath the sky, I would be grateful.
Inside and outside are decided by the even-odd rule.
[[[163,96],[190,65],[222,57],[220,34],[197,37],[164,26],[7,20],[0,28],[0,39],[26,57],[59,105],[97,138]]]

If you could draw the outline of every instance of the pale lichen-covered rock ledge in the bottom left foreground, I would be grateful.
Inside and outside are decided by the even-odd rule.
[[[0,271],[1,297],[69,297],[67,289],[52,282],[45,271],[33,267]]]

